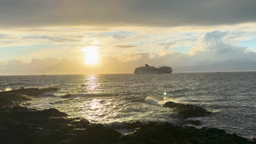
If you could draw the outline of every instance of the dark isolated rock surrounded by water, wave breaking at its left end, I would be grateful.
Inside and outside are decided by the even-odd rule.
[[[164,107],[170,107],[173,111],[182,115],[184,118],[189,117],[202,117],[210,114],[209,111],[203,109],[200,106],[190,105],[190,104],[179,104],[172,101],[168,101],[164,104]]]

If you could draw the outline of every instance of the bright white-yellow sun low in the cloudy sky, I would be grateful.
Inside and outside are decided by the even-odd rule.
[[[98,63],[98,47],[97,46],[86,46],[84,47],[83,51],[85,52],[84,62],[86,64]]]

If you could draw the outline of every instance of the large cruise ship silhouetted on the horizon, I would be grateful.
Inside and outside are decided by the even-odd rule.
[[[138,67],[134,70],[134,74],[171,74],[172,68],[162,66],[159,68],[155,68],[154,66],[149,66],[145,64],[145,67]]]

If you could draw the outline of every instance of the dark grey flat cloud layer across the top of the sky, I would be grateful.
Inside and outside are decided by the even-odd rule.
[[[3,0],[1,26],[188,26],[255,22],[251,0]]]

